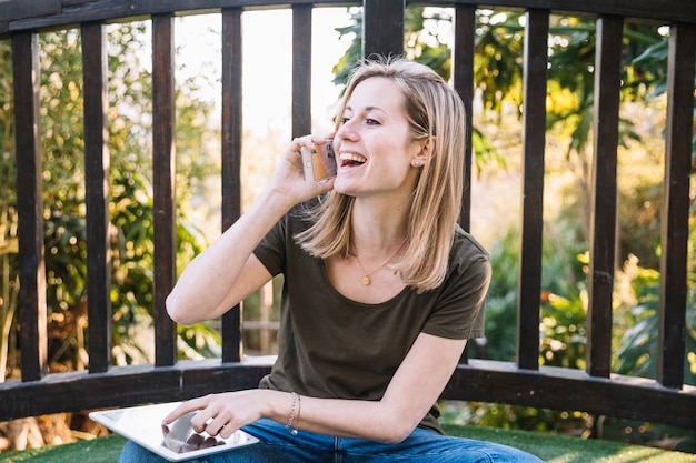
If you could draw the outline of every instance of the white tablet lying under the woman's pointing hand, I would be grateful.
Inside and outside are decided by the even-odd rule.
[[[226,452],[258,442],[258,439],[241,430],[227,439],[197,433],[191,427],[191,416],[195,413],[188,413],[171,425],[162,426],[165,416],[180,403],[91,412],[89,417],[170,462]]]

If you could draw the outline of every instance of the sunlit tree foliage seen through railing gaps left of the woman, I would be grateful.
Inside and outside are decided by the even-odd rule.
[[[152,187],[151,187],[151,76],[142,43],[147,23],[111,27],[108,33],[109,71],[109,213],[113,259],[111,304],[113,356],[119,364],[152,360]],[[39,62],[42,180],[46,236],[49,355],[52,371],[79,369],[88,363],[82,330],[86,326],[86,209],[81,37],[78,30],[40,34]],[[192,81],[180,82],[177,101],[183,108],[178,119],[179,154],[192,173],[213,169],[200,160],[200,124],[210,105],[192,95]],[[17,304],[17,198],[14,133],[12,122],[12,72],[9,43],[0,42],[0,259],[3,280],[0,328],[3,355],[0,369],[12,371],[16,348],[13,315]],[[183,101],[183,102],[181,102]],[[193,152],[198,161],[190,155]],[[178,191],[190,195],[188,177],[180,177]],[[202,234],[178,209],[178,256],[190,260],[205,245]],[[181,329],[182,340],[198,352],[218,353],[219,335],[210,328]],[[191,355],[182,343],[182,355]]]

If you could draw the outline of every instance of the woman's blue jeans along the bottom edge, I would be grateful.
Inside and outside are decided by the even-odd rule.
[[[379,444],[357,439],[334,437],[300,431],[294,436],[282,424],[271,420],[242,427],[261,442],[191,460],[200,463],[540,463],[529,453],[501,444],[451,437],[416,429],[404,442]],[[128,442],[119,463],[162,463],[166,460]]]

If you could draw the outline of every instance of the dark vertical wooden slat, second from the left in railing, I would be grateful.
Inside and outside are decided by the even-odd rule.
[[[111,253],[109,249],[109,131],[107,127],[106,28],[82,24],[84,189],[89,371],[111,364]]]

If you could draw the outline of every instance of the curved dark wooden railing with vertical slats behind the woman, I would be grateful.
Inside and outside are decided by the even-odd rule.
[[[175,274],[173,62],[176,14],[218,11],[222,17],[222,217],[223,227],[240,214],[241,19],[260,8],[292,11],[292,135],[310,132],[312,9],[348,1],[264,0],[2,0],[0,38],[11,40],[16,121],[19,272],[21,280],[21,380],[0,384],[0,421],[143,402],[171,401],[215,391],[257,385],[269,365],[245,359],[239,308],[222,320],[221,359],[177,361],[177,331],[165,311]],[[686,249],[694,117],[696,9],[684,0],[474,0],[419,1],[451,7],[454,87],[471,125],[474,46],[477,8],[519,9],[526,13],[524,50],[523,212],[518,272],[517,362],[469,360],[456,370],[444,397],[524,404],[640,419],[696,429],[696,390],[683,384],[686,313]],[[365,0],[364,54],[399,53],[404,42],[405,0]],[[594,177],[587,368],[539,365],[543,191],[549,14],[570,12],[597,21],[595,62]],[[107,22],[151,19],[152,143],[155,200],[153,364],[113,368],[111,359],[110,262],[108,259],[108,182],[105,140]],[[662,229],[659,350],[657,379],[615,375],[610,371],[612,292],[615,255],[616,163],[622,31],[626,18],[669,24],[668,104]],[[83,43],[84,164],[89,270],[89,371],[47,374],[47,304],[43,269],[41,149],[38,128],[37,32],[78,26]],[[336,24],[341,26],[341,24]],[[471,165],[471,140],[467,141]],[[470,179],[467,179],[467,184]],[[469,227],[470,189],[461,223]],[[692,308],[693,310],[693,308]]]

